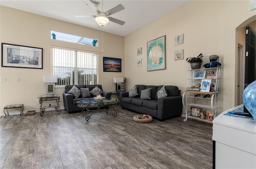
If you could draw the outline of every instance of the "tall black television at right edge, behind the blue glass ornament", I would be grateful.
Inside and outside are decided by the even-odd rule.
[[[244,88],[256,81],[256,31],[250,26],[245,31]],[[245,106],[244,112],[249,113]]]

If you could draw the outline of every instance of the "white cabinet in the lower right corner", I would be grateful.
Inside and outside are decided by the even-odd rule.
[[[243,106],[243,105],[240,105]],[[213,120],[213,168],[256,169],[256,126],[253,120],[226,116]]]

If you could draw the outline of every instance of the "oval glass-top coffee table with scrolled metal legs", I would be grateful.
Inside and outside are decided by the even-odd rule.
[[[93,113],[98,112],[99,110],[105,111],[106,113],[109,112],[109,106],[113,105],[114,112],[109,112],[110,115],[116,116],[116,105],[119,103],[119,99],[117,98],[104,98],[102,101],[96,101],[94,99],[86,99],[86,100],[79,100],[76,102],[77,106],[83,108],[82,115],[86,116],[85,119],[88,121]],[[90,112],[90,115],[89,115]]]

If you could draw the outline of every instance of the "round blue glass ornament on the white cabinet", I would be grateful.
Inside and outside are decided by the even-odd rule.
[[[244,89],[243,102],[244,106],[252,114],[254,125],[256,126],[256,81],[250,83]]]

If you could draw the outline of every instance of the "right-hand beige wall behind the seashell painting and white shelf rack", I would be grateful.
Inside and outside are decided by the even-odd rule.
[[[186,70],[190,69],[186,58],[199,53],[218,55],[222,62],[222,110],[235,106],[236,28],[256,16],[256,10],[250,11],[249,6],[250,1],[191,1],[127,35],[124,41],[127,88],[136,84],[177,85],[183,91]],[[184,44],[174,46],[174,36],[181,33]],[[166,70],[147,72],[147,42],[163,35],[166,35]],[[137,56],[138,47],[142,47],[142,55]],[[174,61],[174,51],[180,49],[184,49],[184,59]],[[140,58],[142,66],[137,67],[136,60]]]

